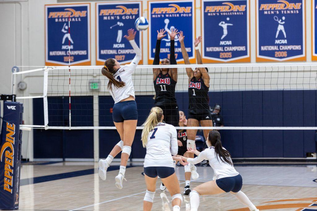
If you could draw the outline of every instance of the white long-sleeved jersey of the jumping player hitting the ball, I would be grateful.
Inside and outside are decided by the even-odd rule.
[[[130,95],[132,95],[135,99],[132,74],[134,73],[139,61],[141,60],[142,55],[141,50],[136,42],[134,40],[130,40],[129,42],[133,47],[136,55],[130,64],[124,65],[119,70],[117,70],[115,74],[113,74],[113,78],[115,80],[123,81],[126,83],[126,85],[121,88],[117,88],[113,84],[111,85],[111,89],[109,90],[109,92],[114,100],[114,103],[118,103],[121,100],[128,98]]]

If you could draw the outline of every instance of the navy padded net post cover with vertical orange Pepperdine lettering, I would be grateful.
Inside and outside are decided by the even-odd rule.
[[[0,209],[19,208],[23,104],[3,102],[0,135]]]

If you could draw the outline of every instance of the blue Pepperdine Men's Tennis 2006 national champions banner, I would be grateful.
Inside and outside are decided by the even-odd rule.
[[[256,61],[306,61],[305,0],[256,1]]]

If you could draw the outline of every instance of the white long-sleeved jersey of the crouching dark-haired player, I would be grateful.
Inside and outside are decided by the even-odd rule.
[[[215,147],[213,146],[205,149],[199,154],[199,156],[195,158],[187,158],[187,162],[191,164],[197,164],[203,160],[209,160],[209,165],[214,170],[217,179],[229,176],[237,176],[239,174],[239,172],[237,172],[232,165],[223,162],[219,156],[216,157]]]

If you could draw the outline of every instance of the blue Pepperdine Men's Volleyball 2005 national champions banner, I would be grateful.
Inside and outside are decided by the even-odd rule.
[[[249,0],[203,0],[204,62],[250,62]]]

